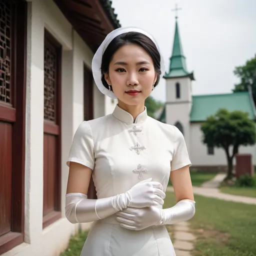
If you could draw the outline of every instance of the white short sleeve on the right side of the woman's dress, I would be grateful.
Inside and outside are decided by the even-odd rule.
[[[171,170],[176,170],[181,167],[184,167],[186,165],[191,165],[187,148],[186,148],[186,143],[183,134],[181,131],[174,127],[174,149],[173,149],[173,155],[172,155],[172,160],[171,160]]]

